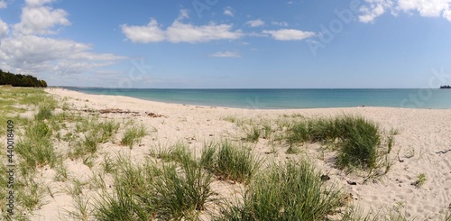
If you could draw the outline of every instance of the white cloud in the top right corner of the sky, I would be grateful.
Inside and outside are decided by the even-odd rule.
[[[373,23],[387,11],[416,13],[424,17],[444,17],[451,22],[451,0],[365,0],[367,3],[360,10],[359,21]]]

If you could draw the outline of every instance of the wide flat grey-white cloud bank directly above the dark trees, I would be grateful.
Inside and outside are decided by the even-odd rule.
[[[75,74],[126,59],[114,54],[89,52],[91,49],[91,45],[76,41],[33,35],[8,38],[0,44],[0,61],[3,63],[0,68],[25,74]]]

